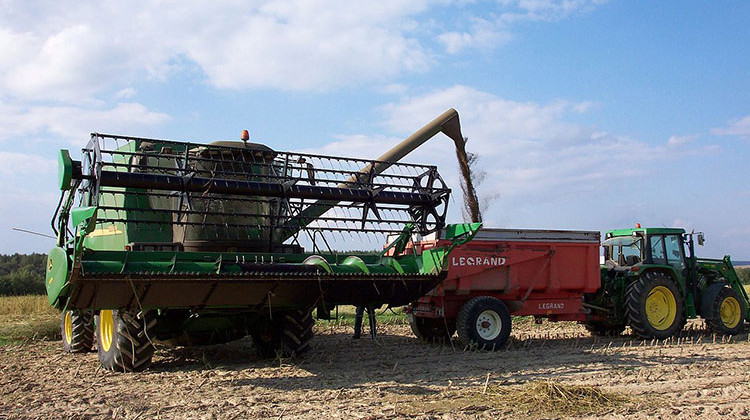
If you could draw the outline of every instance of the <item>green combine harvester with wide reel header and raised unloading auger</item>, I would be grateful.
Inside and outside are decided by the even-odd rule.
[[[289,356],[308,348],[314,309],[408,304],[444,276],[452,247],[403,250],[446,228],[450,190],[434,166],[397,162],[439,132],[463,141],[455,110],[376,160],[279,152],[244,133],[211,144],[94,133],[81,160],[61,150],[46,286],[65,350],[96,340],[105,368],[140,371],[157,340],[250,335],[262,356]],[[478,227],[448,226],[454,246]],[[330,249],[345,233],[354,246],[392,241]]]

